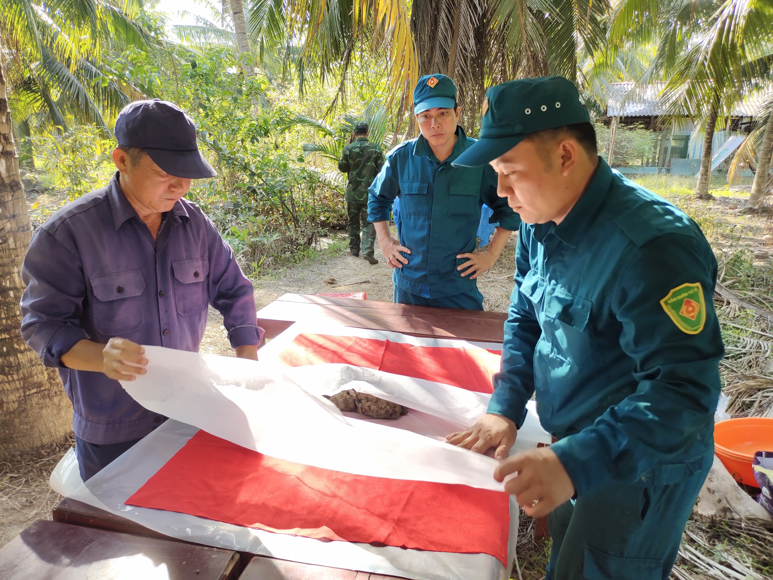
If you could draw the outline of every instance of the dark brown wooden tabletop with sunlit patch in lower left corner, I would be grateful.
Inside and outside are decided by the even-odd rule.
[[[230,550],[38,520],[0,549],[3,580],[236,580]]]

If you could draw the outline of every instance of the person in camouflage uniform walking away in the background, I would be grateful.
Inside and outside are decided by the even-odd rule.
[[[354,141],[343,149],[339,169],[348,174],[346,183],[346,229],[349,231],[349,252],[359,256],[362,229],[363,258],[370,264],[378,264],[373,257],[373,245],[376,242],[376,230],[368,221],[368,188],[376,179],[384,162],[384,155],[376,143],[368,141],[368,124],[357,123],[354,128]]]

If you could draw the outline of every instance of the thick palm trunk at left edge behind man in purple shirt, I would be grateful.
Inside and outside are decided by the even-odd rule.
[[[31,237],[0,65],[0,459],[71,429],[72,408],[56,370],[43,367],[20,330],[22,260]]]

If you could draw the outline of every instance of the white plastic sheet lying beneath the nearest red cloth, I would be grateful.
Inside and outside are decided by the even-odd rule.
[[[63,496],[128,518],[161,534],[215,548],[416,580],[508,578],[499,560],[489,554],[451,554],[345,541],[319,541],[274,534],[187,513],[126,505],[124,502],[145,485],[197,431],[197,428],[179,421],[166,421],[85,484],[78,474],[75,454],[70,450],[54,469],[51,486]],[[517,533],[518,506],[511,497],[510,561],[515,552]]]

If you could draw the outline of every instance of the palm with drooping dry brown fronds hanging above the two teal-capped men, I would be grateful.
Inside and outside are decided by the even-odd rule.
[[[459,88],[463,123],[479,118],[485,88],[521,76],[577,79],[577,55],[605,38],[608,0],[290,0],[291,37],[308,70],[346,74],[352,50],[383,54],[398,118],[417,77],[445,73]],[[340,63],[340,65],[338,64]]]

